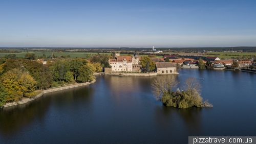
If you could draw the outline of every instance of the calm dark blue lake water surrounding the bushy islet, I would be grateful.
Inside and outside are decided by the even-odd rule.
[[[201,96],[214,107],[163,106],[151,83],[167,76],[97,76],[94,84],[0,109],[0,143],[188,143],[188,136],[256,136],[256,74],[179,73],[179,88],[186,78],[197,78]]]

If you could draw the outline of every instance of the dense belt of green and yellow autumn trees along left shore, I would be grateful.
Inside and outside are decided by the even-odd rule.
[[[105,55],[98,56],[99,62],[60,56],[47,61],[47,64],[42,64],[33,56],[25,56],[27,59],[0,59],[0,107],[7,102],[18,102],[23,97],[34,97],[36,89],[54,87],[53,82],[93,81],[93,74],[100,72],[101,66],[107,65],[105,59],[102,60]]]

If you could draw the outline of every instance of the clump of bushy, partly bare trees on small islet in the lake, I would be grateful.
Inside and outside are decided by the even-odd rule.
[[[200,96],[201,85],[195,78],[187,78],[182,91],[172,89],[178,85],[178,81],[174,77],[158,77],[152,83],[152,92],[157,100],[161,100],[164,105],[188,108],[188,107],[212,107],[208,100],[202,102]]]

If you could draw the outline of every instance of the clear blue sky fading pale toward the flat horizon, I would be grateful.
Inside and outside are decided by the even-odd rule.
[[[256,46],[256,1],[0,0],[0,47]]]

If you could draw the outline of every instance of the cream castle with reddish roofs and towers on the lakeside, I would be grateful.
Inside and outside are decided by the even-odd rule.
[[[120,56],[120,53],[113,53],[113,58],[109,59],[111,71],[141,71],[141,56],[135,51],[134,56]]]

